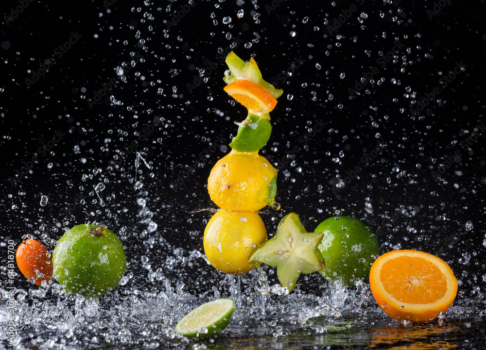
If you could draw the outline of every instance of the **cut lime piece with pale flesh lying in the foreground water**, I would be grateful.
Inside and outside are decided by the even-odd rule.
[[[219,334],[229,324],[234,308],[233,299],[222,298],[209,301],[182,317],[174,330],[188,337],[208,337]]]

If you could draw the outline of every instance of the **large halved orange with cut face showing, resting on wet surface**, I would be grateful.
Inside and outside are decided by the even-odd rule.
[[[369,274],[373,297],[388,316],[412,323],[428,322],[446,312],[457,294],[451,267],[417,250],[393,250],[373,263]]]

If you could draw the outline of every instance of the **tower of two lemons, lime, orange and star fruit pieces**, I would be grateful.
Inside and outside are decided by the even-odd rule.
[[[203,243],[213,267],[241,275],[255,267],[249,258],[267,240],[258,211],[275,203],[277,169],[258,151],[270,137],[268,113],[283,91],[261,78],[253,59],[245,63],[231,52],[226,64],[231,75],[226,74],[225,91],[248,109],[248,117],[240,123],[232,150],[209,175],[209,196],[221,209],[209,220]]]

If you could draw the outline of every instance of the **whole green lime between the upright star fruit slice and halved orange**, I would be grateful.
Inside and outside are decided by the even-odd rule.
[[[315,232],[324,233],[319,244],[326,261],[326,268],[319,271],[324,278],[340,279],[345,285],[368,278],[371,264],[380,255],[378,239],[368,226],[354,217],[330,217]]]

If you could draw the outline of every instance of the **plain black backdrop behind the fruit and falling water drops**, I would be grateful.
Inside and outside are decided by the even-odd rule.
[[[260,152],[279,170],[282,209],[261,213],[270,234],[291,211],[309,231],[339,211],[363,219],[377,233],[382,252],[434,253],[451,265],[466,294],[477,293],[473,286],[484,288],[485,136],[460,147],[484,123],[484,1],[25,4],[21,11],[19,1],[1,5],[2,241],[19,244],[22,235],[32,234],[52,250],[51,240],[65,229],[103,222],[127,248],[134,275],[127,287],[139,289],[156,284],[139,269],[142,255],[155,270],[164,268],[168,256],[202,251],[204,219],[215,208],[205,184],[212,165],[228,151],[210,146],[218,137],[227,145],[236,133],[234,122],[245,117],[223,91],[223,58],[234,50],[244,60],[254,56],[263,77],[284,89],[271,113],[271,139]],[[67,49],[73,34],[79,40]],[[395,42],[403,49],[382,67],[380,51],[386,56]],[[34,80],[60,45],[67,49],[62,57],[36,82],[26,81]],[[464,71],[441,85],[457,63]],[[117,67],[125,64],[123,81]],[[374,83],[365,81],[351,97],[349,88],[374,67]],[[109,93],[93,103],[105,86]],[[440,94],[422,113],[411,113],[434,88]],[[155,117],[162,117],[161,124],[142,136]],[[322,130],[317,122],[326,123]],[[56,132],[65,135],[44,156],[37,153]],[[129,153],[133,141],[136,150],[120,155]],[[377,143],[379,154],[363,162]],[[456,151],[460,156],[454,157]],[[153,168],[140,160],[137,169],[136,152]],[[30,173],[16,177],[35,156]],[[434,178],[431,171],[447,166],[447,157],[451,167]],[[344,181],[356,166],[362,167],[359,178],[335,195],[336,175]],[[136,181],[141,189],[134,188]],[[98,183],[105,184],[99,191],[104,205],[93,189]],[[47,206],[39,204],[42,195],[49,198]],[[147,200],[147,211],[140,210],[138,198]],[[144,232],[150,219],[157,230]],[[1,254],[6,266],[6,247]],[[189,290],[199,290],[191,277],[199,269],[214,281],[222,277],[202,259],[166,272],[173,282],[185,279]],[[2,286],[6,271],[0,273]],[[16,283],[28,287],[22,276]]]

